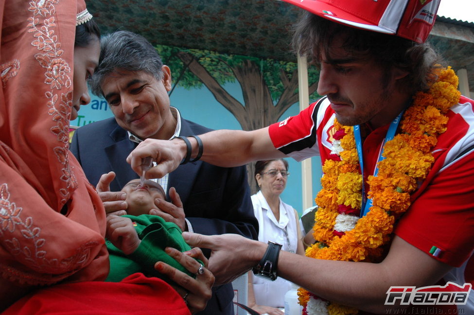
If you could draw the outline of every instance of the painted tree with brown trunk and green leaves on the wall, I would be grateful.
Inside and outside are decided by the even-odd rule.
[[[298,103],[298,65],[294,62],[164,45],[158,45],[156,49],[171,68],[174,85],[188,89],[206,86],[235,116],[243,130],[255,130],[278,122],[291,105]],[[309,93],[313,100],[318,97],[318,75],[315,67],[309,67]],[[224,88],[229,82],[240,84],[244,104]],[[256,191],[253,173],[254,164],[248,165],[252,193]]]

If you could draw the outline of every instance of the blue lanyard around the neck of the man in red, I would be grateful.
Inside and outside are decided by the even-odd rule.
[[[374,170],[374,176],[377,176],[379,172],[379,162],[383,160],[385,157],[382,157],[382,154],[384,153],[384,147],[387,141],[390,141],[395,137],[395,133],[397,132],[398,129],[398,124],[400,123],[400,120],[402,119],[403,113],[405,110],[402,110],[400,114],[393,120],[392,123],[390,123],[390,126],[388,127],[387,134],[385,136],[384,143],[382,144],[382,150],[380,150],[379,154],[379,159],[377,161],[377,165],[375,166]],[[368,198],[365,192],[365,185],[364,185],[364,158],[362,155],[362,137],[360,136],[360,126],[355,125],[354,126],[354,139],[355,139],[355,147],[357,149],[357,157],[359,158],[359,164],[360,164],[360,171],[362,175],[362,206],[361,206],[361,211],[360,211],[360,217],[362,218],[369,212],[370,207],[372,207],[372,199]]]

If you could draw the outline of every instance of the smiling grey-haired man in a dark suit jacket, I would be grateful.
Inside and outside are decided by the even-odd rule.
[[[104,95],[115,117],[77,129],[70,150],[91,184],[102,191],[110,187],[111,192],[101,197],[106,211],[112,212],[126,209],[119,191],[139,177],[125,160],[139,142],[199,135],[210,129],[182,119],[170,106],[171,71],[145,38],[120,31],[105,36],[101,46],[90,86],[94,94]],[[236,233],[257,239],[258,222],[245,167],[222,168],[195,161],[157,181],[172,200],[158,201],[158,215],[165,220],[197,233]],[[211,300],[199,314],[233,314],[232,298],[231,284],[214,287]]]

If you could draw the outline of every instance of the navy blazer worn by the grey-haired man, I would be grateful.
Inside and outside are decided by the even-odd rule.
[[[211,129],[181,118],[180,136],[208,131]],[[102,174],[114,171],[116,177],[110,183],[110,191],[117,192],[130,180],[139,178],[125,160],[136,146],[112,117],[78,128],[70,150],[94,186]],[[258,239],[258,222],[253,213],[245,166],[224,168],[203,161],[187,163],[169,174],[168,189],[170,187],[179,193],[186,219],[194,232],[235,233]],[[203,252],[209,257],[208,250]],[[215,287],[206,309],[199,314],[233,314],[232,298],[230,283]]]

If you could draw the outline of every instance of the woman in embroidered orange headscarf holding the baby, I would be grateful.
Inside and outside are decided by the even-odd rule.
[[[69,153],[69,121],[90,101],[86,80],[100,52],[84,0],[1,1],[0,24],[0,311],[20,298],[5,314],[203,308],[213,282],[207,269],[181,293],[142,274],[102,282],[105,211]],[[170,255],[192,272],[200,267]],[[188,280],[156,266],[177,283]]]

